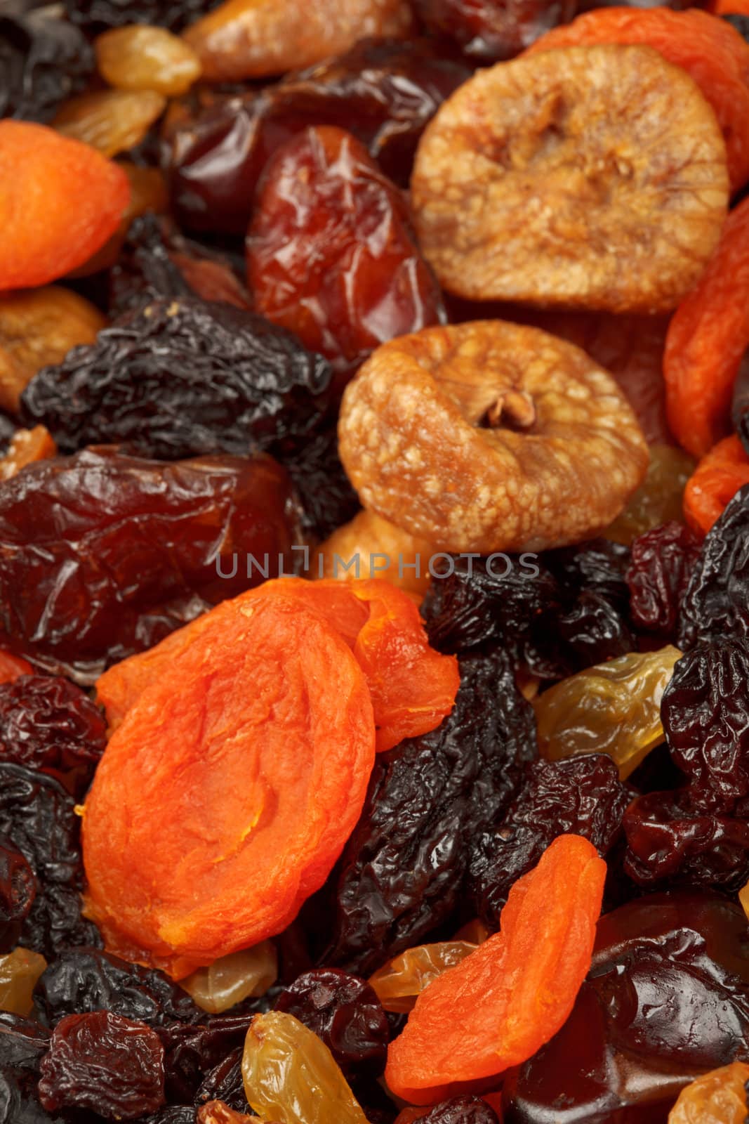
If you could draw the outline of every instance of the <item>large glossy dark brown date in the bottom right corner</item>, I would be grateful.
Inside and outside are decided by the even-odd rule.
[[[505,1124],[665,1122],[689,1080],[746,1057],[748,951],[742,912],[716,894],[602,917],[570,1017],[505,1078]]]

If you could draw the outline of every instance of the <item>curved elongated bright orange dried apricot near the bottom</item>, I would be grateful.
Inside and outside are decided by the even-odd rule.
[[[387,1052],[396,1096],[435,1104],[526,1061],[556,1034],[591,967],[605,874],[581,835],[546,849],[510,890],[500,932],[417,999]]]

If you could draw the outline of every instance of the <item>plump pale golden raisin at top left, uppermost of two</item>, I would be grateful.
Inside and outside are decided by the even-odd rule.
[[[99,73],[119,90],[186,93],[200,78],[200,60],[184,39],[163,27],[113,27],[94,43]]]

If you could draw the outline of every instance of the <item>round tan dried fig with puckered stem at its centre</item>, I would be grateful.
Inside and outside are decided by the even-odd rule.
[[[440,550],[596,534],[648,453],[613,379],[537,328],[484,320],[383,344],[346,388],[340,456],[365,507]]]

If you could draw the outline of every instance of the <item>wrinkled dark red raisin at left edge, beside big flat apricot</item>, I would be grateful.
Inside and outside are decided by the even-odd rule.
[[[0,761],[48,773],[80,798],[106,744],[102,713],[70,680],[21,676],[0,685]]]

